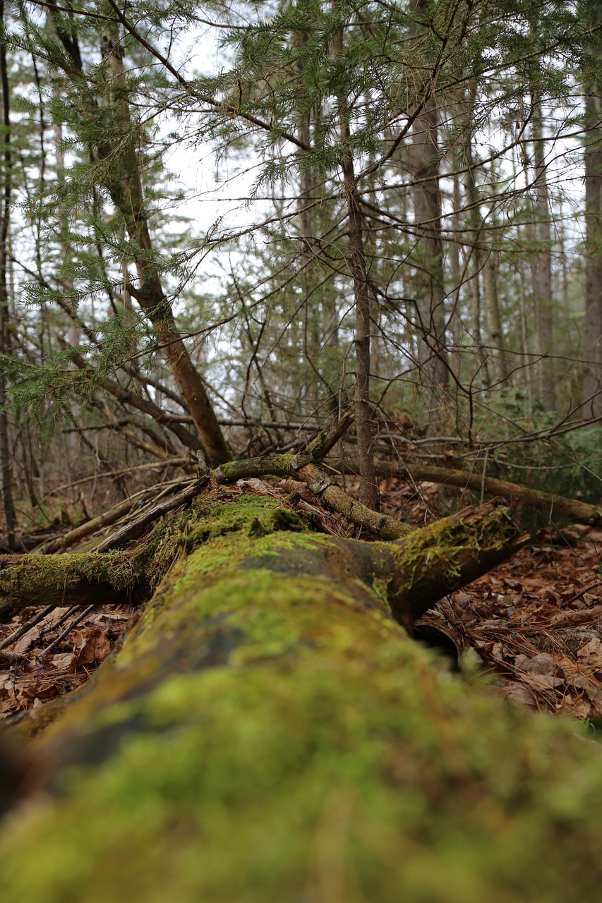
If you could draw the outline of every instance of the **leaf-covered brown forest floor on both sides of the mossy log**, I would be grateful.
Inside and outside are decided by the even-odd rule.
[[[302,486],[249,479],[223,491],[284,500]],[[354,488],[347,484],[347,491]],[[447,513],[445,490],[434,483],[411,487],[389,480],[381,489],[388,510],[403,511],[410,523]],[[297,497],[296,506],[330,533],[360,535],[308,493]],[[33,624],[38,612],[24,609],[0,626],[0,719],[83,684],[137,617],[132,606],[96,605],[54,609]],[[424,623],[457,650],[455,666],[462,667],[467,655],[472,667],[476,662],[488,671],[493,692],[531,711],[602,720],[602,531],[541,528],[531,545],[442,600]]]

